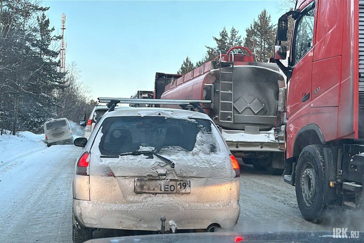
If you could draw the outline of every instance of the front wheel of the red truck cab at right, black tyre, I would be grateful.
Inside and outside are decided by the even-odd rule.
[[[324,155],[321,145],[305,147],[296,167],[296,198],[305,220],[318,224],[323,220],[325,204]]]

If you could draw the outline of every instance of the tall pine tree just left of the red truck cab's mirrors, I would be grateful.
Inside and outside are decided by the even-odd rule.
[[[248,47],[257,62],[267,62],[274,51],[276,28],[266,9],[258,15],[258,19],[246,29],[244,46]]]

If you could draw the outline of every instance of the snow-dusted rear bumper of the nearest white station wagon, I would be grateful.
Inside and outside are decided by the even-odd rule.
[[[214,223],[228,229],[236,225],[240,215],[238,201],[225,205],[186,203],[184,207],[175,208],[170,205],[155,205],[154,208],[143,206],[143,203],[121,205],[73,199],[75,218],[82,226],[89,228],[159,231],[160,219],[165,216],[166,230],[169,230],[170,220],[173,220],[180,230],[206,229]]]

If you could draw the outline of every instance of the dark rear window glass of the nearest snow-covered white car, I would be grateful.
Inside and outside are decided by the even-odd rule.
[[[153,147],[161,150],[179,147],[192,151],[198,133],[211,134],[211,121],[205,119],[175,119],[165,117],[110,117],[102,123],[99,149],[103,155],[140,150]],[[215,152],[215,141],[205,141],[205,147]]]

